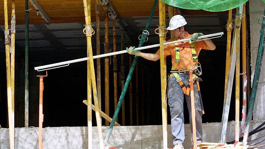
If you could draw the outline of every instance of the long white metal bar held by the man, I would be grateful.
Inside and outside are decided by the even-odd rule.
[[[214,36],[220,37],[222,35],[223,35],[223,32],[219,32],[219,33],[199,36],[198,39],[214,37]],[[178,43],[178,42],[186,42],[186,41],[190,41],[190,40],[191,39],[188,38],[188,39],[182,39],[182,40],[177,40],[177,41],[172,41],[172,42],[165,42],[164,45],[175,44],[175,43]],[[160,46],[159,44],[148,45],[148,46],[144,46],[144,47],[135,48],[135,50],[143,50],[143,49],[155,48],[155,47],[159,47],[159,46]],[[122,50],[122,51],[117,51],[117,52],[112,52],[112,53],[95,55],[95,56],[93,56],[93,59],[101,58],[101,57],[107,57],[107,56],[112,56],[112,55],[117,55],[117,54],[123,54],[123,53],[126,53],[126,52],[127,52],[126,50]],[[64,61],[64,62],[60,62],[60,63],[54,63],[54,64],[48,64],[48,65],[44,65],[44,66],[34,67],[34,69],[38,70],[38,71],[43,71],[43,70],[47,70],[47,68],[51,68],[51,67],[58,68],[58,66],[61,66],[61,65],[67,65],[67,64],[81,62],[81,61],[87,61],[87,60],[89,60],[89,57],[84,57],[84,58],[79,58],[79,59],[75,59],[75,60]],[[51,69],[54,69],[54,68],[51,68]]]

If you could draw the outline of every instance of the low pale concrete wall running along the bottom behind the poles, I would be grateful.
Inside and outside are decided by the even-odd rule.
[[[251,123],[251,128],[256,128],[262,121]],[[221,123],[204,123],[203,139],[204,142],[218,142]],[[228,123],[227,141],[234,140],[234,121]],[[171,126],[168,130],[168,147],[173,147],[173,136]],[[102,127],[103,138],[106,136],[108,127]],[[189,125],[185,124],[186,149],[192,147]],[[38,128],[16,128],[15,129],[15,148],[16,149],[35,149],[38,148]],[[265,131],[251,136],[253,140],[265,134]],[[92,128],[93,148],[98,148],[97,128]],[[43,128],[43,149],[74,149],[87,148],[87,127],[47,127]],[[262,141],[263,138],[250,143]],[[262,142],[264,144],[264,142]],[[261,144],[262,144],[261,143]],[[109,147],[119,149],[159,149],[163,148],[162,126],[115,126],[109,141]],[[0,129],[0,149],[9,149],[8,129]],[[265,147],[263,147],[265,149]]]

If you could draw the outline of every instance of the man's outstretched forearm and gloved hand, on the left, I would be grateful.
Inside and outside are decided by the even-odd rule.
[[[142,53],[140,51],[134,50],[135,47],[126,48],[127,53],[143,57],[150,61],[157,61],[160,59],[160,56],[156,53]]]

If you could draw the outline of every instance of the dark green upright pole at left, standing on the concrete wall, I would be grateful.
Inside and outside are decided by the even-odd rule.
[[[25,127],[29,127],[29,5],[25,0]]]

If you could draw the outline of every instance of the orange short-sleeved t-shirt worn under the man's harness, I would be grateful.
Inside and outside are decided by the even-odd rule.
[[[191,35],[187,33],[188,38],[191,37]],[[179,38],[176,38],[176,40],[180,40]],[[167,42],[174,41],[174,39],[169,39]],[[184,45],[184,46],[191,46],[190,41],[188,42],[179,42],[178,45]],[[207,49],[207,46],[204,41],[198,41],[194,42],[194,47],[197,53],[197,56],[199,55],[201,49]],[[160,55],[160,49],[156,52],[156,54]],[[175,52],[175,44],[170,45],[164,45],[164,58],[166,58],[168,55],[171,55],[171,61],[172,66],[174,67],[174,70],[187,70],[192,67],[193,59],[192,59],[192,49],[191,48],[179,48],[179,58],[182,60],[180,62],[175,62],[176,59],[176,52]]]

